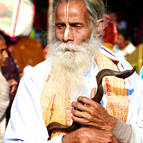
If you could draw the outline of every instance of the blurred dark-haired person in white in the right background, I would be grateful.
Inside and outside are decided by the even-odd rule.
[[[117,42],[114,46],[114,52],[117,53],[120,57],[125,58],[127,55],[133,53],[136,47],[129,39],[129,34],[126,30],[118,30]]]

